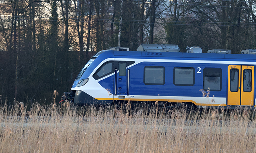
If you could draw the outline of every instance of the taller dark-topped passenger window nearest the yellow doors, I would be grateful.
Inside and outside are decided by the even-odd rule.
[[[203,89],[210,91],[221,91],[222,88],[222,69],[204,68],[203,69]]]

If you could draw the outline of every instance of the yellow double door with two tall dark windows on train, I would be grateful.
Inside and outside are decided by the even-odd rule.
[[[228,105],[254,105],[254,66],[228,66]]]

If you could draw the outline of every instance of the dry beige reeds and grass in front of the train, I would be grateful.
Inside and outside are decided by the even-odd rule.
[[[256,152],[254,111],[1,107],[2,153]],[[129,106],[128,106],[129,107]]]

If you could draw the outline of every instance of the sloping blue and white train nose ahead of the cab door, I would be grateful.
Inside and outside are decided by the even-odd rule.
[[[64,92],[62,100],[69,100],[75,105],[111,104],[113,85],[110,81],[109,85],[103,85],[103,87],[102,82],[105,81],[101,81],[112,80],[113,68],[108,64],[111,61],[114,61],[112,50],[103,50],[91,57],[77,75],[71,92]]]

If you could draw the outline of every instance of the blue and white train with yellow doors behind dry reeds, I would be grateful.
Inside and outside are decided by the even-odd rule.
[[[74,104],[186,103],[255,107],[256,55],[103,50],[75,79]]]

